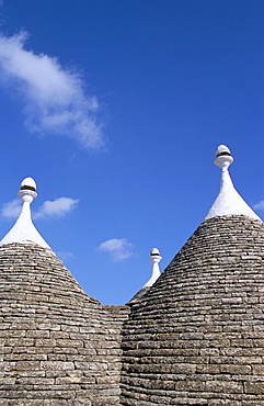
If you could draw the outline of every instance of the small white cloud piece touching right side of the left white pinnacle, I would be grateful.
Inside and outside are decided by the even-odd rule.
[[[36,213],[33,213],[33,218],[61,217],[73,210],[78,203],[78,199],[71,198],[58,198],[55,199],[53,202],[47,200],[43,203],[43,205],[38,208]]]

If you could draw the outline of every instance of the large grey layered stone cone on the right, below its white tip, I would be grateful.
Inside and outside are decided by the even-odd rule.
[[[264,405],[264,225],[197,228],[123,329],[124,406]]]

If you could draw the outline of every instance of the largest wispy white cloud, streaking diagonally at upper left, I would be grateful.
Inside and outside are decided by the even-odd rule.
[[[27,128],[73,137],[84,148],[102,147],[96,97],[88,95],[80,74],[64,69],[57,58],[26,50],[27,37],[0,34],[1,82],[19,92]]]

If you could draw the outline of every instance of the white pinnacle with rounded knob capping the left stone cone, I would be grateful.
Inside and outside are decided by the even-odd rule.
[[[11,243],[37,244],[38,246],[50,249],[32,223],[31,203],[37,196],[35,190],[36,183],[34,179],[25,178],[21,182],[21,189],[18,193],[23,202],[21,213],[14,226],[1,240],[1,245]]]

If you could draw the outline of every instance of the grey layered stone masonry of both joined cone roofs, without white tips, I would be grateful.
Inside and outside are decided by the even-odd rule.
[[[264,406],[264,225],[215,217],[129,306],[0,247],[0,406]]]

